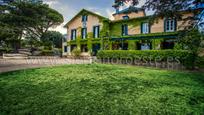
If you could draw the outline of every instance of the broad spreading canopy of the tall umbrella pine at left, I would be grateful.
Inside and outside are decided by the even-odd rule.
[[[15,2],[11,4],[7,21],[24,28],[24,34],[40,38],[49,28],[60,25],[63,16],[46,4]]]

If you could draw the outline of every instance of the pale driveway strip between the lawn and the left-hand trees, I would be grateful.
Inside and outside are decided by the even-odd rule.
[[[45,58],[45,59],[0,59],[0,73],[28,68],[49,67],[66,64],[90,64],[91,59],[66,59],[66,58]]]

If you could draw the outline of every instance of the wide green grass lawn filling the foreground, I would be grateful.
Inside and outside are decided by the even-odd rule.
[[[204,114],[204,73],[68,65],[0,74],[0,114]]]

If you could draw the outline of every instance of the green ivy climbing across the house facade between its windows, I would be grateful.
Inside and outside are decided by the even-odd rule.
[[[90,12],[84,11],[81,13],[81,15],[87,15]],[[96,15],[96,14],[94,14]],[[115,43],[115,41],[112,41],[111,39],[114,37],[119,38],[133,38],[132,40],[126,40],[128,43],[128,50],[136,50],[137,48],[137,42],[141,42],[142,38],[145,39],[151,39],[152,40],[152,48],[153,49],[161,49],[161,42],[164,38],[163,36],[168,35],[176,35],[177,32],[170,32],[170,33],[150,33],[150,34],[138,34],[134,36],[121,36],[122,33],[122,25],[127,24],[128,28],[135,28],[140,27],[141,23],[143,22],[150,22],[149,17],[141,17],[141,18],[133,18],[128,20],[118,20],[118,21],[110,21],[107,18],[99,17],[100,23],[102,23],[102,28],[100,30],[100,38],[93,38],[93,32],[87,33],[87,39],[81,39],[81,36],[77,36],[75,41],[69,41],[68,45],[77,45],[77,48],[81,48],[81,44],[87,44],[87,48],[89,53],[92,53],[92,45],[93,44],[100,44],[101,48],[104,50],[112,50],[112,44]],[[81,35],[81,27],[77,28],[77,32],[80,32],[77,35]],[[154,36],[159,36],[159,38],[154,38]],[[161,38],[160,38],[161,36]]]

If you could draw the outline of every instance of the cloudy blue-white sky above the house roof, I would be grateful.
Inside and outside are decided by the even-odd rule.
[[[142,1],[145,0],[140,1],[141,3],[138,7],[144,4]],[[112,19],[112,13],[115,11],[112,8],[114,0],[44,0],[44,3],[49,4],[51,8],[54,8],[64,16],[64,23],[55,29],[62,34],[66,34],[66,29],[63,28],[63,25],[83,8],[110,19]]]

